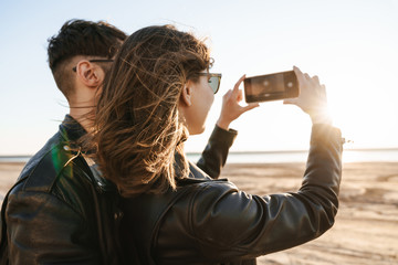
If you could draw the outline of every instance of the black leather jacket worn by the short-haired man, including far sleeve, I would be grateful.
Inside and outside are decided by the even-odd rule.
[[[74,146],[85,134],[66,116],[27,163],[1,210],[0,264],[123,264],[118,193]],[[216,127],[198,165],[218,177],[235,137]],[[211,161],[211,162],[210,162]]]

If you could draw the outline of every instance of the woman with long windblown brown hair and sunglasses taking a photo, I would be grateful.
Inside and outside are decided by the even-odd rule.
[[[208,47],[172,26],[135,32],[115,59],[95,141],[102,171],[125,198],[121,234],[130,261],[254,264],[256,256],[305,243],[334,223],[342,140],[321,112],[326,97],[317,77],[294,68],[301,95],[285,102],[314,124],[303,186],[296,193],[259,197],[212,180],[184,153],[188,136],[203,131],[218,88],[210,67]],[[223,104],[240,99],[243,78]]]

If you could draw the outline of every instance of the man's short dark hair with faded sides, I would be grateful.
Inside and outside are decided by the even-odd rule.
[[[117,28],[103,22],[69,20],[60,32],[49,39],[49,65],[60,91],[69,98],[73,92],[69,62],[77,55],[112,59],[126,34]]]

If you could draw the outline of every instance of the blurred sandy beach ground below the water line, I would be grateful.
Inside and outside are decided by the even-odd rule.
[[[24,163],[0,163],[0,201]],[[304,163],[228,165],[222,177],[253,194],[296,191]],[[259,264],[398,264],[398,162],[345,163],[335,225]]]

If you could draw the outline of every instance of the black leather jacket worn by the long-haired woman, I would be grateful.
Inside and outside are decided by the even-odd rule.
[[[296,193],[251,195],[195,165],[177,191],[123,199],[124,252],[143,264],[255,264],[255,257],[318,237],[333,223],[342,176],[338,129],[313,126]]]

